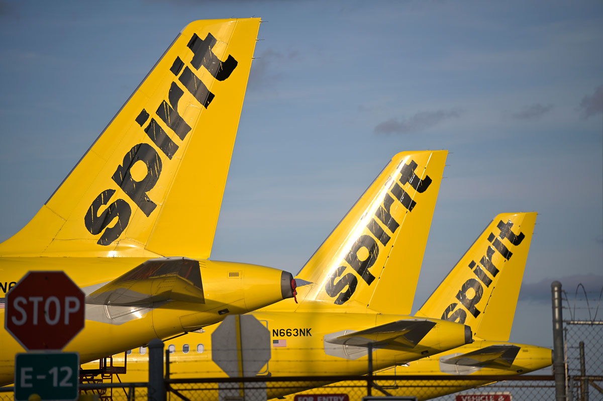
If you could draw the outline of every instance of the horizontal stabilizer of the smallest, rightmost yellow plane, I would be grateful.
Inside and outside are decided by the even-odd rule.
[[[472,352],[440,359],[440,362],[449,365],[463,365],[479,368],[508,368],[513,364],[520,347],[513,344],[500,344],[488,346]]]

